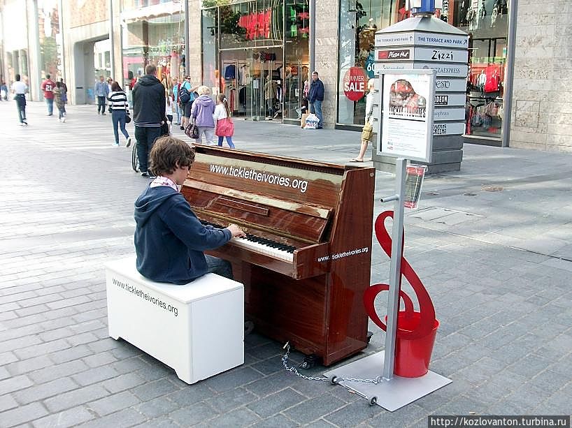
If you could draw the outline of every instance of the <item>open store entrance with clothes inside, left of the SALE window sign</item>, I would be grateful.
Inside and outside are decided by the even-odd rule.
[[[284,115],[282,47],[221,50],[221,91],[234,117],[278,120]]]

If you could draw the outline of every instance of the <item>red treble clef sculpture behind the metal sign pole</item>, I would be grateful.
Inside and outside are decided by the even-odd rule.
[[[380,243],[383,251],[391,258],[392,256],[392,239],[387,233],[385,228],[385,220],[391,217],[393,219],[392,211],[382,212],[376,219],[376,237]],[[405,240],[405,233],[403,233],[403,241]],[[402,242],[403,244],[403,242]],[[405,276],[407,281],[413,287],[415,295],[417,296],[417,301],[419,302],[419,312],[415,312],[413,309],[413,302],[406,293],[401,290],[401,275]],[[382,330],[386,330],[385,323],[380,319],[376,313],[376,308],[373,304],[376,296],[382,291],[389,290],[388,284],[373,284],[364,293],[364,305],[366,307],[366,312],[368,313],[371,320],[373,320],[376,325],[378,325]],[[435,319],[435,308],[433,307],[433,302],[431,302],[431,297],[429,293],[423,286],[419,276],[415,273],[411,265],[403,258],[403,245],[401,246],[401,274],[399,275],[399,297],[403,300],[403,311],[399,311],[397,317],[397,330],[396,330],[396,340],[399,339],[421,339],[429,336],[431,333],[436,332],[436,326],[438,322]],[[402,321],[400,323],[400,321]],[[407,321],[407,322],[406,322]],[[403,327],[405,325],[405,327]],[[433,331],[435,330],[435,332]],[[432,348],[432,344],[431,344]],[[429,350],[429,357],[431,350]],[[427,360],[427,364],[429,361]],[[397,374],[397,371],[396,371]],[[422,376],[422,375],[420,375]]]

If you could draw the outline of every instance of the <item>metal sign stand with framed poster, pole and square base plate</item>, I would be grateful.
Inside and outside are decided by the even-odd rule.
[[[407,162],[431,163],[435,73],[433,70],[425,69],[383,70],[380,73],[380,82],[380,117],[382,120],[378,134],[379,149],[382,154],[396,159],[396,194],[382,198],[382,202],[395,201],[391,262],[389,265],[387,321],[385,324],[385,350],[350,362],[343,367],[327,371],[324,376],[330,378],[332,383],[339,383],[361,397],[366,397],[369,404],[378,404],[388,411],[396,411],[398,408],[442,388],[451,381],[429,370],[426,374],[416,377],[409,377],[408,373],[399,370],[400,374],[394,374],[396,362],[398,362],[398,366],[408,364],[407,359],[403,362],[403,355],[396,355],[401,263],[405,263],[401,254]],[[415,91],[412,92],[412,89]],[[403,103],[404,96],[410,98],[408,103]],[[403,352],[407,357],[408,351],[404,350]],[[429,350],[429,354],[430,352],[431,350]],[[396,359],[397,356],[399,356],[399,360]],[[431,355],[429,355],[430,357]]]

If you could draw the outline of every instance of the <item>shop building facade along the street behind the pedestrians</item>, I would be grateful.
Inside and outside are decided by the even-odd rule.
[[[97,75],[129,91],[153,63],[166,86],[189,74],[224,92],[236,117],[298,124],[309,8],[309,0],[0,0],[2,78],[26,75],[38,99],[35,82],[51,71],[66,79],[73,103],[91,103]],[[405,0],[315,0],[315,17],[325,126],[359,130],[364,97],[346,96],[348,73],[373,78],[376,31],[408,17]],[[571,2],[548,0],[538,13],[534,0],[443,0],[436,17],[471,35],[465,142],[572,151]],[[57,41],[51,68],[46,23]]]

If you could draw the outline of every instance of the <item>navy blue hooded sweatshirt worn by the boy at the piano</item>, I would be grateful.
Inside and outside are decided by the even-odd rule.
[[[226,244],[228,229],[203,226],[183,195],[148,187],[135,201],[137,270],[152,281],[185,284],[206,274],[203,251]]]

